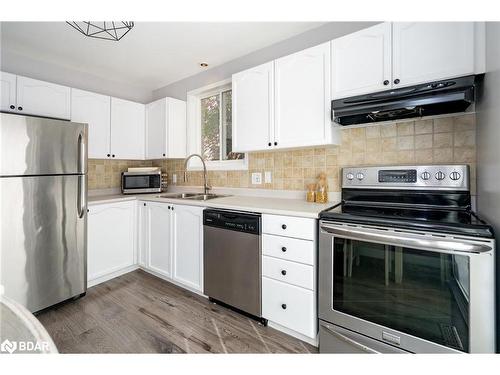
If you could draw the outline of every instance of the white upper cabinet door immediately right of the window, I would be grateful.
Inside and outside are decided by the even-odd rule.
[[[233,75],[233,151],[269,150],[274,139],[274,62]]]

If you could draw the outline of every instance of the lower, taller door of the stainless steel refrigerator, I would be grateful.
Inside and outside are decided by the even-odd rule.
[[[0,178],[0,284],[35,312],[87,287],[86,176]]]

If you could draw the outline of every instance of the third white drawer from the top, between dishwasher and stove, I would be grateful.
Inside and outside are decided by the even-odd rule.
[[[314,290],[313,266],[263,256],[262,276]]]

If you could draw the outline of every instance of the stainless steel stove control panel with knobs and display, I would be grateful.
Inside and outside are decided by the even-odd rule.
[[[469,190],[469,166],[419,165],[343,168],[342,187]]]

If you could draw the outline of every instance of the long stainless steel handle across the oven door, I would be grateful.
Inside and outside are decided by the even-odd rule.
[[[358,229],[321,224],[321,229],[337,237],[366,242],[375,242],[385,245],[412,247],[420,250],[429,250],[442,253],[469,253],[482,254],[492,251],[487,244],[473,243],[470,241],[455,241],[445,238],[429,238],[413,234],[401,235],[397,232],[379,232],[370,229]]]

